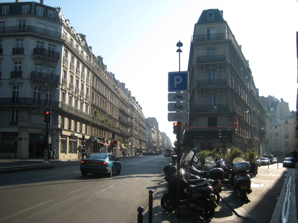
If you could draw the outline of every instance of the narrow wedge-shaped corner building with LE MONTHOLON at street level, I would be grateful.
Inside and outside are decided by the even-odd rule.
[[[195,24],[189,56],[190,120],[183,147],[231,146],[260,155],[268,146],[268,112],[259,98],[241,46],[223,11],[204,10]]]

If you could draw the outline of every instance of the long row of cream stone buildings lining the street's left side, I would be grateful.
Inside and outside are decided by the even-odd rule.
[[[60,8],[16,1],[0,10],[1,158],[54,148],[58,159],[80,158],[83,139],[85,153],[145,150],[141,106]]]

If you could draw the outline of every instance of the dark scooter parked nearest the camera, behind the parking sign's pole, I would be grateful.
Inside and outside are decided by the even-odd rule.
[[[196,153],[198,149],[193,149],[191,152]],[[184,165],[187,161],[183,161]],[[183,169],[181,169],[183,171]],[[168,183],[168,190],[164,192],[161,199],[161,206],[172,211],[177,206],[177,180],[180,180],[180,205],[187,206],[195,211],[204,219],[210,219],[214,215],[216,200],[212,194],[213,189],[210,183],[202,183],[198,185],[189,185],[183,174],[177,175]]]

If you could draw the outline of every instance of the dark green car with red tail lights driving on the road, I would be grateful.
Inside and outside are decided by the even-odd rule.
[[[80,171],[82,176],[86,176],[87,173],[96,173],[112,177],[114,172],[120,174],[121,163],[111,153],[91,153],[81,161]]]

